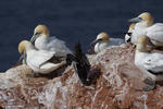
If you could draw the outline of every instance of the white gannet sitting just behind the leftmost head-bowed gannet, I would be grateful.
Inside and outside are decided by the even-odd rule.
[[[46,25],[36,26],[30,41],[35,41],[37,49],[52,51],[55,56],[65,57],[67,53],[71,53],[71,50],[65,46],[63,40],[54,36],[50,37],[50,32]]]

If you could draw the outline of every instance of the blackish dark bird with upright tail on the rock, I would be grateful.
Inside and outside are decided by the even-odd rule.
[[[90,70],[91,65],[88,58],[82,51],[80,44],[75,45],[75,52],[66,56],[66,63],[73,64],[75,74],[84,85],[90,85],[100,74],[99,70]]]

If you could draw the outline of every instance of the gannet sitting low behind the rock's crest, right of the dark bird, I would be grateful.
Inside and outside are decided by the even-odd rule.
[[[120,46],[124,44],[124,39],[121,38],[110,38],[110,36],[106,33],[100,33],[97,36],[97,39],[91,43],[91,45],[95,45],[95,52],[101,52],[109,46]]]

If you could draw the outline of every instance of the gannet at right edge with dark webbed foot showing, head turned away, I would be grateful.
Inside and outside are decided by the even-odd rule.
[[[137,40],[135,64],[136,66],[152,81],[148,83],[150,86],[143,87],[143,90],[151,90],[155,86],[155,81],[163,80],[163,53],[149,52],[147,44],[149,37],[139,36]]]

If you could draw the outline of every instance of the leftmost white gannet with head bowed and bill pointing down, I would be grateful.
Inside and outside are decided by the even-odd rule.
[[[18,52],[24,53],[24,60],[36,73],[47,74],[65,64],[65,61],[55,60],[53,52],[37,50],[30,41],[23,40],[18,45]],[[54,60],[54,61],[53,61]]]

